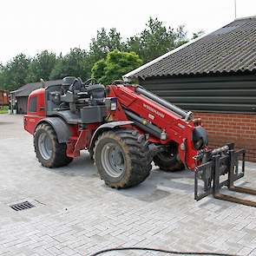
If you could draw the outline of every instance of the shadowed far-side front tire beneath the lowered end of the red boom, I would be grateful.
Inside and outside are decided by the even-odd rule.
[[[166,151],[154,155],[154,164],[165,172],[178,172],[184,169],[184,164],[178,154],[178,145],[171,145]]]

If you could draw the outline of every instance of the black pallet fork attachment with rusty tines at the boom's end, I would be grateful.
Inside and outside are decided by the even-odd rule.
[[[241,169],[239,167],[240,157]],[[208,152],[207,161],[196,167],[194,172],[194,199],[201,200],[207,195],[213,194],[216,199],[256,207],[256,201],[220,193],[220,188],[226,186],[234,192],[256,195],[256,190],[234,186],[234,181],[238,181],[245,175],[245,157],[246,149],[235,151],[233,143]],[[227,179],[220,181],[220,177],[225,174],[227,174]],[[203,192],[200,192],[199,180],[203,181]]]

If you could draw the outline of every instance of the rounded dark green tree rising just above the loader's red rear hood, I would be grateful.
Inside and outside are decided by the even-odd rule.
[[[30,62],[27,82],[38,82],[40,78],[49,80],[51,70],[56,64],[56,55],[48,50],[37,54]]]

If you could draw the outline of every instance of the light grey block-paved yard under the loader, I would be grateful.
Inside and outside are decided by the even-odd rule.
[[[256,187],[256,165],[248,168],[246,185]],[[90,255],[112,246],[256,255],[256,209],[211,197],[196,202],[193,184],[192,173],[154,168],[139,187],[112,190],[88,154],[44,168],[22,116],[0,115],[0,255]],[[36,207],[10,208],[24,200]]]

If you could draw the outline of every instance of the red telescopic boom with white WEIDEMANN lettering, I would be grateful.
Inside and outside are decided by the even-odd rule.
[[[176,115],[171,110],[161,106],[143,95],[135,93],[133,86],[113,86],[109,87],[108,96],[116,97],[119,102],[119,108],[116,111],[114,120],[122,120],[126,118],[121,106],[135,112],[142,118],[151,121],[157,127],[162,128],[167,133],[167,140],[161,141],[150,136],[149,141],[167,144],[170,141],[175,141],[179,145],[185,140],[187,141],[187,167],[195,168],[194,156],[198,154],[198,150],[194,148],[192,134],[194,130],[194,121],[185,121],[179,115]],[[152,111],[154,110],[154,111]],[[125,116],[123,116],[125,115]],[[179,147],[181,161],[185,161],[184,150]]]

